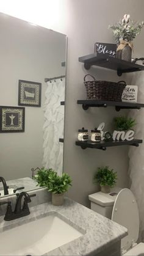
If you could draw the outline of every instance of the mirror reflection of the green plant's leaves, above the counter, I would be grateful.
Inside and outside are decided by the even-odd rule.
[[[49,175],[51,173],[54,173],[54,170],[52,170],[51,168],[45,169],[45,167],[42,167],[40,170],[38,170],[37,175],[34,176],[34,180],[38,183],[37,186],[39,185],[40,187],[47,187]]]

